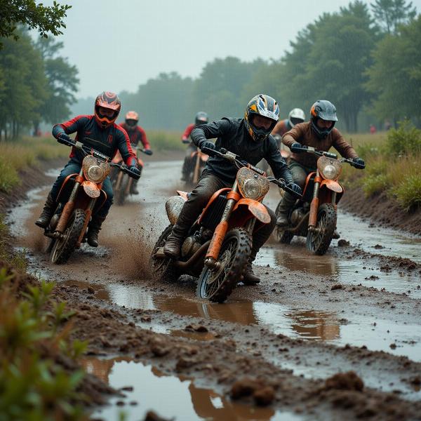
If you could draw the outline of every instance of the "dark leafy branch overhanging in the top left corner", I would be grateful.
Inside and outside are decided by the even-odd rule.
[[[54,1],[53,6],[36,4],[34,0],[8,0],[0,2],[0,37],[19,35],[15,32],[17,25],[22,24],[29,29],[38,29],[41,36],[47,37],[48,32],[53,35],[62,34],[60,28],[65,28],[63,18],[72,6],[60,5]],[[2,44],[0,43],[0,49]]]

